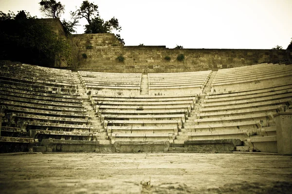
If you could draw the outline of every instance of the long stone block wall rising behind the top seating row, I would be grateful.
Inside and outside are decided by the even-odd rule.
[[[166,73],[218,70],[259,63],[292,63],[292,50],[123,46],[112,33],[73,34],[72,39],[79,49],[77,69],[84,71]],[[87,58],[82,54],[86,54]],[[179,54],[184,55],[182,62],[177,60]],[[119,62],[118,56],[123,56],[124,62]],[[170,60],[165,60],[166,56]]]

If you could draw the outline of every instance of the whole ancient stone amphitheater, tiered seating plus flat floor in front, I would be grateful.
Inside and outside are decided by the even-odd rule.
[[[1,193],[290,193],[292,65],[203,68],[1,61]]]

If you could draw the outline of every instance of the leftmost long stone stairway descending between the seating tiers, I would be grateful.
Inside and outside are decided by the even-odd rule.
[[[103,128],[101,121],[95,115],[95,111],[91,105],[91,101],[89,96],[86,94],[86,90],[83,87],[79,75],[77,72],[72,72],[73,80],[77,85],[77,90],[80,96],[83,99],[83,104],[87,110],[87,114],[89,115],[89,119],[91,120],[91,125],[93,126],[93,141],[98,141],[100,144],[100,152],[108,152],[107,150],[112,150],[113,145],[111,145],[111,141],[107,131]]]

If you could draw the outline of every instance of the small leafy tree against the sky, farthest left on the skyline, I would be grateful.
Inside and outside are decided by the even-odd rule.
[[[39,10],[48,17],[60,18],[64,14],[65,5],[62,5],[61,2],[56,2],[55,0],[41,0],[39,2]]]

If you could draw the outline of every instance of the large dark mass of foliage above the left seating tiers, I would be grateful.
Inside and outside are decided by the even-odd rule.
[[[71,63],[71,47],[52,27],[24,11],[14,15],[0,12],[0,59],[43,65]]]

